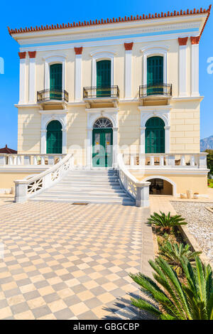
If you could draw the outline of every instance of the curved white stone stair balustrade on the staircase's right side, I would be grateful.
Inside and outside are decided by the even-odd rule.
[[[124,165],[123,154],[118,156],[119,180],[131,197],[136,200],[136,206],[149,206],[149,185],[150,182],[138,181]]]

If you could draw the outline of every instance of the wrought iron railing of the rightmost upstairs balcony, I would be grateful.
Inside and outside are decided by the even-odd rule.
[[[173,93],[172,84],[143,85],[139,87],[139,98],[151,95],[163,95],[171,97]]]

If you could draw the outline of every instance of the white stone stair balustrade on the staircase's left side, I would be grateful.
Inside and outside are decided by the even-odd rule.
[[[22,203],[40,191],[49,188],[53,183],[59,181],[62,176],[73,166],[73,155],[67,154],[61,161],[48,168],[47,171],[36,176],[27,176],[23,180],[16,180],[15,202]]]

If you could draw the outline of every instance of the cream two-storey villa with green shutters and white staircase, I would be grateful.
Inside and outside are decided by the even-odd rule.
[[[149,193],[207,196],[199,44],[210,10],[9,28],[18,153],[0,154],[1,191],[16,181],[17,202],[85,202],[94,188],[91,202],[138,206]]]

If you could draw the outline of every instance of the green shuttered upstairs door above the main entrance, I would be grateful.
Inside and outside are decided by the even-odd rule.
[[[110,97],[111,90],[111,61],[97,62],[97,97]]]

